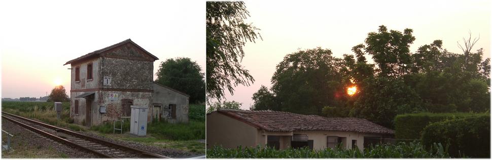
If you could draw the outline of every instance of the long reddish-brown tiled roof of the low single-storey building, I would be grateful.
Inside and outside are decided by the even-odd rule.
[[[395,131],[355,117],[323,117],[281,111],[223,109],[217,112],[270,132],[347,131],[368,134],[394,134]]]

